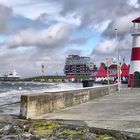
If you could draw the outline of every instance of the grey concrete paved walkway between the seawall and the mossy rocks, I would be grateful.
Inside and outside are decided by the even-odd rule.
[[[140,133],[140,88],[122,89],[81,105],[49,113],[44,118],[80,121],[90,127]]]

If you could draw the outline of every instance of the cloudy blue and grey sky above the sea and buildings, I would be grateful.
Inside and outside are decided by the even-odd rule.
[[[68,55],[97,66],[119,54],[130,63],[132,20],[140,0],[0,0],[0,74],[63,75]]]

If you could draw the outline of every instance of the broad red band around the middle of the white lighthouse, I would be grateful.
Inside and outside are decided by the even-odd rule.
[[[140,60],[140,47],[132,48],[131,60]]]

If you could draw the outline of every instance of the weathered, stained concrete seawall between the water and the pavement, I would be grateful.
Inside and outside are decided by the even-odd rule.
[[[117,85],[111,85],[110,88],[108,88],[108,86],[97,88],[90,87],[69,91],[22,95],[20,117],[33,119],[55,110],[81,104],[94,98],[99,98],[117,90]]]

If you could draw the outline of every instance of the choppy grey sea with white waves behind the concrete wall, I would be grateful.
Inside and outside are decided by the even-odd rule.
[[[101,85],[93,85],[94,87]],[[0,115],[19,115],[20,96],[83,88],[82,83],[3,82],[0,81]],[[47,94],[47,93],[46,93]]]

